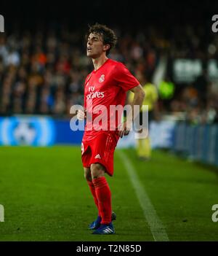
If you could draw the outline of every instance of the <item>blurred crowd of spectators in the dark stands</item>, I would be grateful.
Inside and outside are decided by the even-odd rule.
[[[88,27],[87,27],[88,28]],[[41,27],[0,34],[0,115],[68,116],[70,106],[83,104],[83,83],[92,71],[86,58],[87,28]],[[116,49],[109,58],[121,61],[136,77],[152,81],[161,57],[218,59],[218,36],[203,26],[115,28]],[[192,83],[174,84],[171,98],[158,99],[156,117],[174,115],[190,123],[218,122],[218,85],[206,70]],[[158,85],[156,85],[158,88]]]

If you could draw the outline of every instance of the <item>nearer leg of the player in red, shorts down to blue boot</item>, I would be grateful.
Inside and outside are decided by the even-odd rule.
[[[100,216],[102,217],[100,228],[94,234],[115,233],[112,225],[113,212],[111,211],[111,193],[108,182],[105,179],[105,172],[113,175],[113,152],[115,149],[115,139],[110,133],[102,133],[94,139],[91,149],[90,169],[92,182],[97,195]]]

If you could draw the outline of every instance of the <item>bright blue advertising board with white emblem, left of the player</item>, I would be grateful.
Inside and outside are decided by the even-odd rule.
[[[52,146],[81,144],[83,131],[71,131],[69,120],[51,117],[0,117],[0,145]]]

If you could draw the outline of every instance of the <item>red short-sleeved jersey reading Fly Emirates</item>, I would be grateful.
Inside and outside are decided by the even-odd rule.
[[[124,106],[126,91],[137,85],[140,85],[140,82],[126,69],[126,66],[111,59],[105,61],[99,69],[92,71],[86,77],[84,109],[86,109],[87,119],[84,141],[94,139],[101,132],[110,131],[110,123],[113,123],[110,106]],[[102,109],[106,109],[106,111],[104,112]],[[89,119],[90,115],[92,115],[92,120]],[[97,117],[100,122],[96,122]],[[116,119],[115,127],[120,121]],[[104,125],[103,129],[102,124]]]

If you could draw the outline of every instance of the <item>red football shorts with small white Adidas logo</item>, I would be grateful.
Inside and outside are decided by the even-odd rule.
[[[83,166],[90,168],[92,163],[100,163],[107,173],[113,176],[113,154],[118,139],[112,133],[100,133],[94,139],[82,141],[81,159]]]

